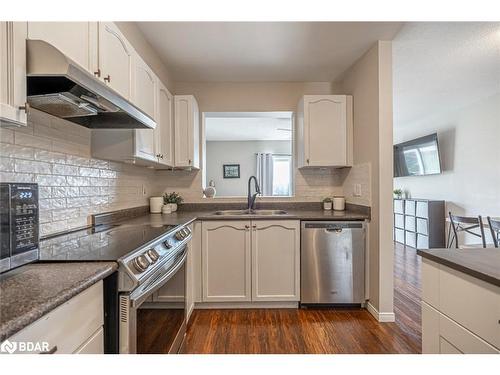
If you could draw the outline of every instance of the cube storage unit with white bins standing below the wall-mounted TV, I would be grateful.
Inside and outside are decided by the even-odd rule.
[[[394,199],[394,240],[417,249],[445,247],[444,201]]]

